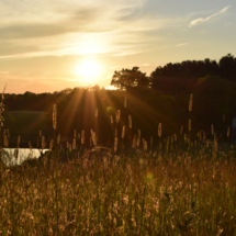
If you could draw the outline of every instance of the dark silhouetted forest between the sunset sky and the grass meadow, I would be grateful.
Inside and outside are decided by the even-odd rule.
[[[93,128],[102,143],[113,143],[113,127],[108,125],[111,115],[115,121],[121,110],[121,122],[128,126],[132,115],[132,138],[137,130],[146,137],[157,136],[158,123],[162,123],[164,135],[179,133],[181,125],[188,132],[189,98],[193,94],[191,114],[192,130],[210,132],[225,131],[236,115],[236,58],[228,54],[220,59],[186,60],[157,67],[146,76],[138,67],[114,71],[111,85],[117,90],[105,90],[99,86],[65,89],[54,93],[4,94],[7,111],[45,111],[47,125],[52,127],[52,109],[57,104],[58,133],[72,136],[76,128],[89,133]],[[124,108],[124,99],[127,106]],[[98,119],[95,110],[98,109]],[[225,115],[225,123],[223,122]],[[16,135],[16,134],[15,134]]]

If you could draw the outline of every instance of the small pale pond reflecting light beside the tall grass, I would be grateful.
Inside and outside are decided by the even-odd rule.
[[[35,159],[45,154],[49,149],[36,149],[36,148],[2,148],[1,159],[7,166],[21,165],[27,159]]]

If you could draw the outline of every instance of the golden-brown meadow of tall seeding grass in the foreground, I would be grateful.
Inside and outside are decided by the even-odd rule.
[[[162,137],[159,123],[158,138],[133,131],[125,149],[132,117],[117,135],[117,111],[111,149],[97,143],[95,131],[90,147],[83,132],[61,145],[55,105],[50,153],[0,166],[0,234],[235,235],[235,146],[220,145],[213,126],[211,141],[192,134],[191,111],[190,98],[188,134]]]

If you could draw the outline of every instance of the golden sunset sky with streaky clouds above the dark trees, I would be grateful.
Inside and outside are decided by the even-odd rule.
[[[236,56],[235,0],[0,0],[0,91],[109,87],[114,70]]]

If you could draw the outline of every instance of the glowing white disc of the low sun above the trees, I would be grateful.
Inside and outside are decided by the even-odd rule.
[[[76,75],[81,76],[86,80],[95,80],[101,74],[101,66],[93,59],[83,60],[76,68]]]

